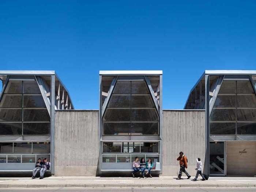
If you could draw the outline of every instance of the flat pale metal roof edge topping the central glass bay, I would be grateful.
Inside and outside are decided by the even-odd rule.
[[[148,70],[148,71],[99,71],[99,75],[162,75],[162,70]]]

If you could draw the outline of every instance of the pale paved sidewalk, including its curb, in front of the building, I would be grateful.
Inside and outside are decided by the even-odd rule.
[[[256,177],[210,177],[208,181],[191,181],[175,176],[132,177],[1,177],[0,188],[6,187],[256,187]]]

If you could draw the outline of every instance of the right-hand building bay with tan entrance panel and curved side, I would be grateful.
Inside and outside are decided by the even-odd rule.
[[[205,109],[204,172],[211,176],[256,173],[256,71],[205,71],[185,109]]]

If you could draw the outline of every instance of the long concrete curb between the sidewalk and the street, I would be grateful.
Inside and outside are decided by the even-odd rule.
[[[60,187],[256,187],[254,184],[0,184],[0,188],[60,188]]]

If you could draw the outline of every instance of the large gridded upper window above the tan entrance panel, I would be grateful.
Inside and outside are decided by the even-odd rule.
[[[210,116],[210,135],[256,135],[256,95],[251,81],[224,80]]]

